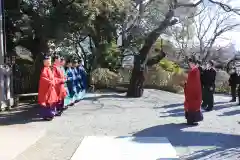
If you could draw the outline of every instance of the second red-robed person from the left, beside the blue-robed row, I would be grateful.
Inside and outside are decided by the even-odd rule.
[[[64,98],[67,96],[67,91],[65,89],[64,83],[66,81],[64,72],[61,69],[61,57],[55,55],[53,57],[53,75],[55,78],[55,90],[58,96],[58,103],[56,106],[57,116],[60,116],[64,110]]]

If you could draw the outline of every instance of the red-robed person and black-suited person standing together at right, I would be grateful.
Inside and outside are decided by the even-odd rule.
[[[184,111],[187,124],[196,125],[203,120],[201,108],[205,111],[213,109],[216,70],[211,60],[204,66],[189,58],[188,65],[190,70],[184,84]]]

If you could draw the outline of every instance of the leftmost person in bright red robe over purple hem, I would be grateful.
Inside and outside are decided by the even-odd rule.
[[[44,67],[40,74],[38,89],[38,104],[44,120],[52,120],[56,113],[58,96],[55,90],[55,79],[51,70],[51,58],[44,56]]]

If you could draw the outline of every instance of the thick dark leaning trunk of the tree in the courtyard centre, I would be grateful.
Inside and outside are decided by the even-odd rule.
[[[145,81],[144,72],[147,55],[152,47],[152,45],[156,42],[161,33],[169,26],[176,24],[176,20],[171,20],[173,17],[173,11],[169,11],[165,19],[161,22],[160,26],[153,30],[148,37],[145,39],[145,44],[142,49],[139,51],[139,55],[137,55],[134,59],[134,67],[132,70],[132,76],[130,79],[130,84],[127,91],[127,97],[141,97],[143,94],[143,84]],[[156,59],[159,62],[163,57],[158,56]]]

